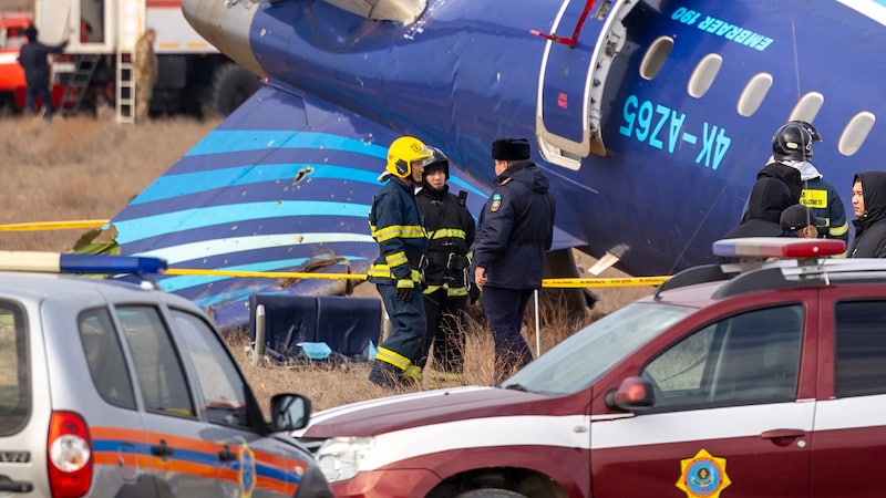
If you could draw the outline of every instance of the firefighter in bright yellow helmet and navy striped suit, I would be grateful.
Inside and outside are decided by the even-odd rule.
[[[385,172],[379,177],[388,183],[373,197],[369,211],[379,258],[370,267],[368,280],[381,294],[392,329],[379,346],[369,380],[384,387],[409,385],[408,375],[420,375],[415,364],[426,352],[421,270],[427,238],[413,187],[421,184],[431,154],[418,138],[395,139],[388,149]]]

